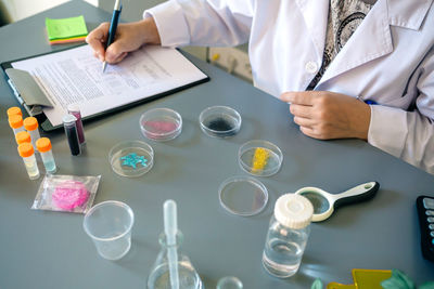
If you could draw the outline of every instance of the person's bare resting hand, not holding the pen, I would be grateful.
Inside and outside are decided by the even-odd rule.
[[[368,140],[371,109],[355,97],[329,91],[304,91],[284,92],[280,98],[291,103],[294,122],[308,136]]]

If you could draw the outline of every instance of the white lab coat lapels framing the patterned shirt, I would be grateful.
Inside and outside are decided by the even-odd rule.
[[[318,3],[319,2],[319,3]],[[391,25],[418,30],[433,0],[378,0],[348,42],[332,61],[320,86],[331,78],[393,51]],[[329,0],[297,0],[322,62]]]

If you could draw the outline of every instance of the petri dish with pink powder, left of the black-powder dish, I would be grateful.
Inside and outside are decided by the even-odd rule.
[[[182,130],[181,116],[170,108],[148,110],[141,115],[139,123],[142,134],[152,141],[174,140]]]

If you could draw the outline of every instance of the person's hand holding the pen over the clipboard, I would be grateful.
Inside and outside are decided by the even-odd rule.
[[[119,23],[115,41],[105,51],[108,28],[110,23],[103,23],[86,37],[86,42],[93,49],[93,55],[102,62],[118,63],[127,56],[128,52],[135,51],[145,43],[161,43],[155,22],[149,17],[135,23]]]

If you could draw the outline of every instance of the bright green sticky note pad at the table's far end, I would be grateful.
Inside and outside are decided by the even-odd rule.
[[[62,19],[46,18],[46,27],[50,40],[88,35],[88,28],[82,15]]]

